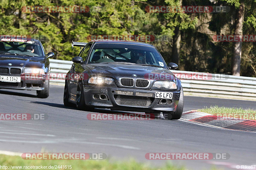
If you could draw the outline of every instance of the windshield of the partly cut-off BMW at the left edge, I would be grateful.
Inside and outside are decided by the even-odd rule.
[[[44,54],[40,44],[36,41],[26,40],[5,40],[0,41],[0,55],[13,54],[44,58]]]

